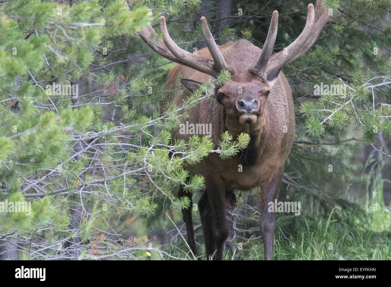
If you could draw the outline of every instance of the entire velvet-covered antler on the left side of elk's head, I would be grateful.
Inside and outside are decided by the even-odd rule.
[[[172,41],[169,32],[167,31],[164,16],[160,17],[160,30],[163,32],[165,39],[158,40],[157,34],[151,26],[146,27],[138,34],[152,50],[166,59],[217,78],[217,75],[221,70],[228,70],[228,65],[224,61],[222,53],[210,33],[205,17],[201,17],[201,28],[213,61],[179,48],[179,46]]]

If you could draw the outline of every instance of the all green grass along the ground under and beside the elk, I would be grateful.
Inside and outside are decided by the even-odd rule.
[[[289,231],[282,234],[276,228],[273,244],[274,260],[391,260],[390,213],[388,210],[369,212],[366,226],[363,226],[362,222],[354,222],[344,217],[340,220],[332,219],[334,214],[335,210],[327,219],[316,216],[304,216],[301,220],[293,218],[295,221],[300,221],[296,222],[296,225],[292,225],[292,222],[285,219],[287,225],[303,226],[304,224],[305,228],[290,234],[288,234]],[[378,226],[384,226],[384,230],[375,231],[366,228],[369,226],[375,229],[378,229]],[[251,248],[244,248],[248,251],[235,248],[235,255],[240,256],[233,256],[233,252],[226,248],[224,259],[263,260],[262,239],[256,241],[258,243],[253,244]],[[167,253],[185,259],[188,250],[184,245],[179,245],[180,248],[170,246],[170,251]],[[203,253],[202,249],[200,253]],[[201,258],[205,259],[205,256],[201,255]]]

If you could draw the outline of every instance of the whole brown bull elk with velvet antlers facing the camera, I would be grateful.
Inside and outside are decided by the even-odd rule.
[[[178,63],[167,77],[166,87],[175,85],[178,75],[185,76],[181,83],[195,91],[201,82],[212,76],[215,87],[208,91],[210,98],[204,98],[190,109],[189,123],[212,124],[212,140],[218,144],[220,136],[228,131],[233,138],[244,132],[251,141],[246,149],[237,155],[222,160],[211,153],[200,163],[189,165],[191,175],[205,177],[206,190],[199,200],[199,212],[205,239],[206,254],[215,253],[221,260],[224,242],[228,237],[226,208],[236,202],[235,189],[248,191],[261,188],[260,229],[264,241],[264,258],[273,259],[274,212],[268,212],[268,203],[274,202],[280,191],[284,164],[295,135],[294,106],[291,89],[281,71],[282,67],[305,53],[316,41],[321,29],[328,21],[328,11],[322,1],[308,5],[307,21],[300,36],[285,50],[271,55],[277,34],[278,12],[274,11],[269,32],[262,50],[249,41],[241,39],[235,43],[218,46],[201,17],[202,32],[207,48],[197,54],[177,46],[167,32],[165,18],[160,18],[160,29],[164,39],[157,39],[151,26],[140,31],[142,39],[161,56]],[[224,85],[217,85],[217,75],[222,70],[231,73],[231,79]],[[239,93],[241,87],[242,93]],[[174,101],[181,105],[187,97],[183,91],[176,94]],[[164,107],[163,107],[164,109]],[[184,120],[183,120],[184,121]],[[174,132],[174,139],[188,140],[190,135]],[[242,171],[238,167],[242,165]],[[188,244],[197,255],[192,222],[192,195],[181,187],[179,197],[188,196],[190,206],[183,209]]]

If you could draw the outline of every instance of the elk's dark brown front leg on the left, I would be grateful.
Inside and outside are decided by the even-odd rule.
[[[208,198],[213,216],[212,228],[216,247],[213,260],[222,260],[224,242],[228,237],[228,224],[225,217],[224,183],[218,178],[206,178],[206,188],[208,189]]]

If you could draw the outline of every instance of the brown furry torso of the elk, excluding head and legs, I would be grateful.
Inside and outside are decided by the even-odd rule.
[[[237,73],[242,73],[233,75],[231,82],[236,79],[239,79],[240,82],[255,80],[255,77],[247,73],[247,70],[248,67],[252,67],[257,61],[260,53],[259,48],[247,40],[228,43],[219,48],[226,62],[231,66],[238,67],[236,69]],[[198,53],[203,57],[211,58],[207,48],[198,51]],[[232,55],[237,55],[238,57],[233,57]],[[197,82],[202,82],[208,77],[208,75],[178,64],[170,71],[166,87],[173,86],[179,74]],[[236,86],[239,86],[239,84],[236,84],[234,87],[237,90]],[[184,94],[180,91],[174,101],[181,105],[185,98],[186,93]],[[162,110],[164,108],[165,106],[162,107]],[[260,182],[266,180],[267,175],[271,173],[274,167],[283,165],[291,151],[295,134],[294,107],[291,89],[282,73],[280,73],[265,103],[265,111],[262,117],[263,125],[243,127],[244,125],[240,123],[224,121],[223,106],[214,98],[202,100],[189,111],[189,114],[189,118],[181,121],[182,123],[186,121],[189,123],[212,123],[212,139],[215,147],[218,146],[221,134],[226,130],[233,137],[242,132],[248,133],[251,136],[252,145],[258,147],[256,166],[244,168],[242,173],[237,171],[240,164],[239,157],[221,160],[218,154],[212,153],[196,166],[187,167],[193,175],[196,173],[206,175],[205,171],[208,169],[206,166],[210,166],[215,173],[217,171],[222,173],[223,178],[232,182],[229,186],[233,186],[234,189],[248,190],[259,186]],[[284,126],[287,126],[287,133],[283,132]],[[187,141],[191,135],[179,134],[178,130],[173,136],[174,139]]]

